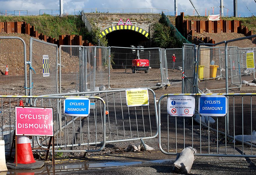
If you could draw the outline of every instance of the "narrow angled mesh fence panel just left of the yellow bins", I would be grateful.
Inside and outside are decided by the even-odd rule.
[[[193,71],[194,69],[194,46],[183,46],[183,60],[184,60],[184,93],[193,93],[193,84],[194,84],[194,79],[193,79]],[[182,74],[181,74],[182,76]]]

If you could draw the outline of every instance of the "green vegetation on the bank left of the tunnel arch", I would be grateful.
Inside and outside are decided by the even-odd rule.
[[[26,21],[35,26],[38,33],[43,33],[53,38],[58,39],[59,35],[82,35],[83,40],[88,40],[92,44],[98,45],[98,40],[101,40],[107,46],[106,39],[99,37],[99,28],[93,25],[93,31],[89,32],[82,21],[81,15],[74,18],[73,15],[64,17],[54,17],[51,15],[39,16],[0,16],[1,22]]]

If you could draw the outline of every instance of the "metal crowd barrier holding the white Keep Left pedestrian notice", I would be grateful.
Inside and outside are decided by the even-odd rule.
[[[199,114],[193,118],[169,116],[165,111],[166,98],[171,95],[225,95],[229,98],[229,118],[227,115],[207,117]],[[197,149],[195,156],[256,157],[255,101],[256,93],[162,95],[158,103],[160,150],[164,154],[177,155],[191,146]]]

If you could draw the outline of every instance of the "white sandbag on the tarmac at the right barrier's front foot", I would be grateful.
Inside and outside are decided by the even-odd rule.
[[[186,147],[179,155],[179,158],[174,162],[175,168],[180,170],[182,173],[189,173],[194,163],[196,149],[192,147]]]

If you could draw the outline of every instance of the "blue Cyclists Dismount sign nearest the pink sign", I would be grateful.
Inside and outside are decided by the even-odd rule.
[[[90,100],[88,98],[66,98],[64,100],[64,113],[67,116],[84,116],[90,113]]]

